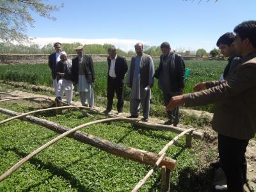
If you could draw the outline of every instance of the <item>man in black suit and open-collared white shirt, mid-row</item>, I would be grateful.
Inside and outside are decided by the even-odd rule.
[[[115,47],[108,48],[108,105],[104,113],[112,110],[114,94],[117,97],[117,111],[123,112],[124,108],[124,76],[128,70],[125,58],[116,54]]]

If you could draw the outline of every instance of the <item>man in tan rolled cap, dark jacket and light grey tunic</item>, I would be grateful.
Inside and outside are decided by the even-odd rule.
[[[77,84],[77,92],[82,106],[94,106],[94,95],[92,83],[95,80],[92,57],[83,54],[83,46],[75,48],[77,57],[72,60],[72,78]]]

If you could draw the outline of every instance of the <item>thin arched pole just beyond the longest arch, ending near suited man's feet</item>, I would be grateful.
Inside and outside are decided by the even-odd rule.
[[[69,109],[69,108],[74,108],[74,109],[88,109],[89,111],[90,111],[90,110],[95,111],[95,110],[93,110],[93,109],[91,109],[91,108],[84,107],[84,106],[62,106],[62,107],[56,107],[56,108],[39,109],[39,110],[36,110],[36,111],[29,111],[28,113],[22,113],[22,114],[20,114],[20,115],[7,118],[6,120],[1,121],[1,122],[0,122],[0,125],[1,125],[1,124],[4,124],[4,123],[6,123],[6,122],[10,122],[11,120],[15,120],[15,119],[17,119],[17,118],[21,118],[22,116],[31,115],[31,114],[34,114],[34,113],[39,113],[39,112],[44,112],[44,111],[51,111],[51,110],[55,110],[55,109]]]

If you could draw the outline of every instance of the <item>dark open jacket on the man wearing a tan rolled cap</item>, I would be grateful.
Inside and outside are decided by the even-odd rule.
[[[88,83],[93,83],[95,80],[94,67],[92,57],[86,54],[83,55],[83,70]],[[72,60],[72,76],[74,83],[78,83],[79,77],[79,58],[78,56]]]

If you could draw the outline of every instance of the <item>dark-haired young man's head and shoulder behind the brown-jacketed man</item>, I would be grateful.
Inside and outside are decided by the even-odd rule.
[[[235,70],[235,68],[241,64],[241,60],[239,56],[237,56],[233,46],[235,39],[236,36],[229,32],[221,35],[216,43],[220,49],[221,54],[223,54],[225,57],[228,57],[228,65],[225,67],[223,79],[226,79]]]

